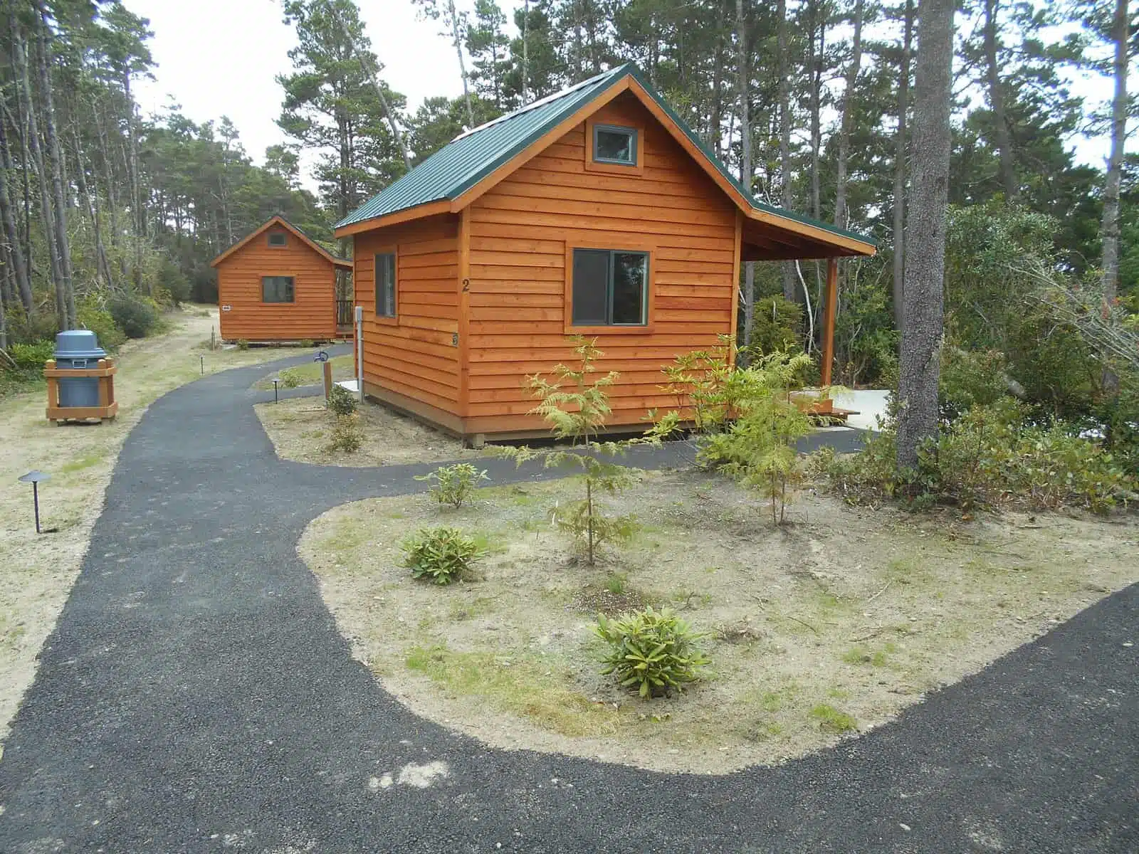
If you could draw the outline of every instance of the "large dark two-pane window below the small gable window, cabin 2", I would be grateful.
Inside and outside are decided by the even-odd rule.
[[[648,253],[573,251],[573,325],[645,326]]]

